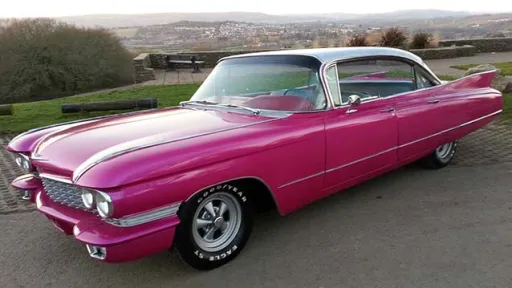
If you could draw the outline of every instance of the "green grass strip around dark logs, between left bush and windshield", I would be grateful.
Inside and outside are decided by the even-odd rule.
[[[62,104],[154,97],[158,99],[158,107],[168,107],[178,105],[180,101],[190,99],[198,87],[199,85],[197,84],[156,85],[87,96],[71,96],[47,101],[14,104],[14,115],[0,116],[0,133],[18,133],[28,129],[60,122],[126,112],[115,111],[62,114],[60,110]]]

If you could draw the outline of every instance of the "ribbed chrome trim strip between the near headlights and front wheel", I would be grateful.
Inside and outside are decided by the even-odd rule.
[[[104,221],[117,227],[133,227],[151,221],[175,216],[178,213],[181,203],[182,202],[176,202],[169,206],[160,207],[148,212],[143,212],[124,218],[108,218]]]

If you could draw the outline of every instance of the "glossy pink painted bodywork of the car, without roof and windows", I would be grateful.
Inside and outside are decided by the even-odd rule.
[[[417,160],[492,121],[503,106],[502,95],[487,88],[493,76],[482,73],[355,108],[286,117],[161,109],[41,130],[16,138],[8,149],[31,154],[41,176],[108,193],[114,218],[187,201],[207,187],[237,179],[268,187],[279,212],[287,214]],[[357,111],[347,113],[351,109]],[[144,148],[108,158],[74,177],[84,161],[102,151],[137,146]],[[167,249],[180,223],[174,216],[117,227],[51,201],[36,177],[19,177],[13,186],[32,191],[31,201],[59,230],[84,244],[107,247],[107,262]]]

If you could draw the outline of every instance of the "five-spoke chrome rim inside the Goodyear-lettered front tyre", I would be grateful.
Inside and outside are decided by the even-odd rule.
[[[215,193],[197,208],[192,235],[199,248],[217,252],[226,248],[236,237],[242,223],[242,208],[231,194]]]

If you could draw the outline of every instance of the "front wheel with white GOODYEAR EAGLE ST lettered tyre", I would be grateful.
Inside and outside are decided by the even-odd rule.
[[[233,260],[251,233],[253,208],[239,187],[221,184],[197,193],[180,210],[175,245],[190,266],[217,268]]]

